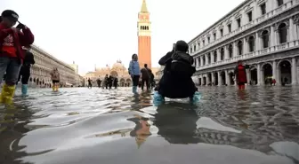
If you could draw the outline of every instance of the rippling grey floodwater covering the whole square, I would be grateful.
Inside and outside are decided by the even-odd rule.
[[[0,108],[0,163],[299,163],[298,87],[206,87],[198,105],[158,107],[130,90],[29,90]]]

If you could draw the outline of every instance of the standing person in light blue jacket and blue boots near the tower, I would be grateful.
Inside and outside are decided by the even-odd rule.
[[[136,95],[136,94],[138,94],[137,86],[138,86],[139,78],[141,75],[141,70],[140,70],[137,54],[132,55],[132,60],[130,61],[130,65],[129,65],[129,74],[131,75],[132,81],[133,81],[132,91],[133,91],[133,94]]]

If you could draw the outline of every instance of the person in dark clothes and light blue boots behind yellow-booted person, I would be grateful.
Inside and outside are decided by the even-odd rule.
[[[30,77],[30,68],[31,65],[34,65],[36,63],[34,59],[34,55],[30,52],[31,47],[27,46],[24,47],[25,51],[25,59],[23,61],[23,66],[20,67],[20,74],[18,82],[21,81],[21,95],[22,97],[26,97],[27,95],[27,88],[28,88],[28,81]],[[18,82],[16,84],[18,84]]]

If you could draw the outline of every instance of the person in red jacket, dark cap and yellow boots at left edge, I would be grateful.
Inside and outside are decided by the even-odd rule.
[[[20,23],[19,15],[12,10],[5,10],[0,20],[0,83],[6,73],[5,83],[1,91],[0,102],[12,103],[15,84],[18,82],[20,66],[25,57],[22,46],[34,42],[30,29]],[[13,27],[17,22],[19,25]]]

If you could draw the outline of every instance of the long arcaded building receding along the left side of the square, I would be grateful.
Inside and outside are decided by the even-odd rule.
[[[54,58],[36,45],[32,45],[30,51],[34,54],[36,64],[31,67],[29,85],[49,87],[52,84],[50,72],[53,70],[53,67],[57,67],[61,73],[61,84],[75,83],[76,73],[71,66]]]

